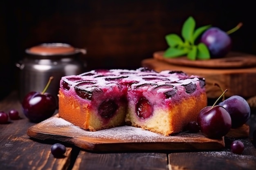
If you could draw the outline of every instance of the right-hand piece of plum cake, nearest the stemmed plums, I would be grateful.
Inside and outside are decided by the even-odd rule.
[[[167,136],[196,121],[199,111],[207,106],[207,96],[204,79],[183,72],[160,74],[141,76],[146,81],[128,89],[126,124]]]

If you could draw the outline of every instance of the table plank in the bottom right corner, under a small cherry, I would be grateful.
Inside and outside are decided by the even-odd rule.
[[[234,140],[234,139],[233,139]],[[249,139],[241,139],[245,145],[242,155],[228,149],[209,152],[179,152],[168,155],[171,170],[255,170],[256,150]]]

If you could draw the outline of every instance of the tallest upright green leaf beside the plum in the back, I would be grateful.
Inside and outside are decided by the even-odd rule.
[[[195,29],[195,20],[189,17],[182,26],[182,37],[184,40],[193,43],[193,33]]]

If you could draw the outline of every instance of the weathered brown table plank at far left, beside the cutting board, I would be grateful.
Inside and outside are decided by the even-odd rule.
[[[27,135],[27,129],[34,124],[22,114],[16,94],[0,102],[0,110],[8,113],[12,108],[20,112],[21,119],[0,124],[0,169],[66,170],[70,165],[72,148],[67,147],[63,159],[54,158],[50,149],[56,141],[34,141]]]

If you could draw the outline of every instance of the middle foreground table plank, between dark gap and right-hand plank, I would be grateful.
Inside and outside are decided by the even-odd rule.
[[[81,151],[72,170],[168,170],[165,153],[92,153]]]

